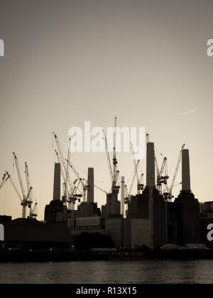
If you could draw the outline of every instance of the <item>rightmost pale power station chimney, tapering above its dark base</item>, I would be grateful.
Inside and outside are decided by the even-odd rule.
[[[190,153],[188,149],[182,149],[182,191],[190,192]]]

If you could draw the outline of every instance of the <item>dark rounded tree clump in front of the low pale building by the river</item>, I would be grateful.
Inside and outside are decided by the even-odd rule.
[[[114,248],[114,241],[100,233],[82,232],[75,239],[75,249],[89,250],[90,248]]]

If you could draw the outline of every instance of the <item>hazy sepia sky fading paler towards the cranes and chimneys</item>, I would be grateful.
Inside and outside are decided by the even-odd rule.
[[[192,191],[213,199],[212,16],[212,0],[0,0],[0,175],[8,170],[18,186],[12,152],[28,162],[39,219],[53,198],[52,131],[67,150],[71,126],[112,126],[114,116],[121,127],[146,128],[171,176],[186,143]],[[131,155],[118,160],[127,181]],[[81,175],[94,167],[96,184],[109,190],[104,153],[73,154],[72,162]],[[104,193],[95,201],[105,204]],[[21,216],[10,182],[0,214]]]

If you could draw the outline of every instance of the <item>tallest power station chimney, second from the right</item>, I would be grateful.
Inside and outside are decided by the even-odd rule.
[[[155,148],[150,142],[146,150],[146,186],[155,187]]]

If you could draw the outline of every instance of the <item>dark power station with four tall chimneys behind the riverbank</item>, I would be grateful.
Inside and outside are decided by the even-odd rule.
[[[189,150],[182,147],[182,190],[175,202],[166,200],[157,187],[155,146],[147,142],[146,187],[131,195],[126,218],[121,214],[116,153],[111,167],[111,193],[102,211],[94,202],[94,168],[88,168],[87,201],[67,209],[60,191],[60,163],[55,163],[53,201],[45,207],[47,226],[68,226],[73,237],[82,232],[107,234],[117,248],[158,248],[166,243],[198,245],[200,238],[200,205],[190,189]],[[110,170],[110,167],[109,167]],[[84,195],[85,197],[85,195]],[[75,206],[73,204],[72,206]]]

